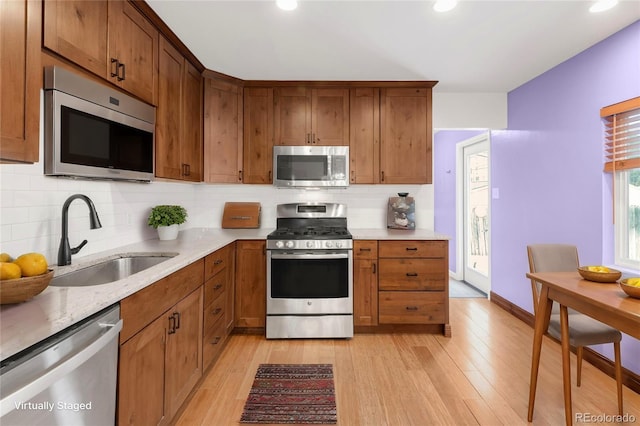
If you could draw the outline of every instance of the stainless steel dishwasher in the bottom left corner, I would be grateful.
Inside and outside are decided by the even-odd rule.
[[[115,424],[121,329],[114,305],[2,361],[0,424]]]

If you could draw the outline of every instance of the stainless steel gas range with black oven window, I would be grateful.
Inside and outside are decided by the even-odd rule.
[[[278,205],[267,236],[267,339],[353,337],[352,252],[346,205]]]

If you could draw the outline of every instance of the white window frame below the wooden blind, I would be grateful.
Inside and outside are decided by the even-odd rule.
[[[615,179],[615,262],[616,265],[635,270],[640,270],[640,262],[631,259],[629,254],[629,175],[630,169],[617,171]]]

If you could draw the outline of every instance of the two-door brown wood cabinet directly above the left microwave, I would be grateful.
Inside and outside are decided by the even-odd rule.
[[[47,0],[44,47],[153,105],[158,31],[128,1]]]

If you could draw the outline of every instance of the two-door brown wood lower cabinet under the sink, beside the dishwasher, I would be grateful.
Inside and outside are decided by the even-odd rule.
[[[118,424],[169,423],[202,376],[203,273],[200,260],[120,302]]]

